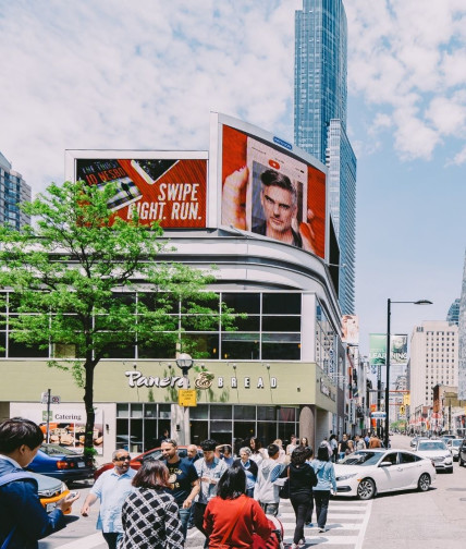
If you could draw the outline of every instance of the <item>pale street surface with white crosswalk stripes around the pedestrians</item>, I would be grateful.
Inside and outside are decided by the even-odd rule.
[[[394,435],[392,448],[409,448],[409,437]],[[40,549],[107,549],[101,534],[96,533],[98,503],[87,518],[78,511],[88,487],[73,508],[69,526],[39,542]],[[439,473],[432,488],[418,491],[381,495],[370,501],[334,498],[330,502],[327,526],[319,534],[317,527],[306,528],[306,547],[326,549],[437,549],[464,547],[466,538],[466,467],[454,464],[453,475]],[[285,542],[292,542],[294,513],[289,501],[280,503],[279,518],[285,529]],[[315,520],[315,515],[314,515]],[[186,547],[201,548],[204,536],[195,528],[188,530]]]

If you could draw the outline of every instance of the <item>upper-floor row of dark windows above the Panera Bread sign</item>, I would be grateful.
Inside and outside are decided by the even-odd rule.
[[[139,300],[148,300],[148,295],[118,294],[120,300],[133,302],[137,310]],[[12,335],[12,320],[17,317],[14,294],[2,294],[0,304],[0,357],[53,357],[60,352],[73,356],[74,349],[65,345],[49,345],[45,349],[26,346],[19,343]],[[154,300],[152,300],[154,301]],[[302,342],[302,294],[301,292],[221,292],[212,308],[221,303],[233,309],[235,315],[232,326],[206,322],[206,315],[189,314],[179,304],[172,304],[168,315],[172,319],[170,332],[161,332],[157,344],[144,345],[136,342],[125,349],[109,349],[106,358],[175,358],[176,338],[193,341],[193,356],[207,359],[249,359],[249,361],[299,361]],[[24,314],[24,313],[23,313]],[[96,325],[100,316],[96,316]],[[102,321],[102,320],[100,320]],[[231,321],[231,319],[230,319]],[[167,325],[167,322],[165,322]],[[168,337],[163,338],[163,333]],[[63,354],[62,354],[63,356]]]

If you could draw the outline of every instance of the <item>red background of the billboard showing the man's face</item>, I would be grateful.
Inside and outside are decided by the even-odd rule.
[[[222,126],[222,224],[232,224],[237,229],[250,230],[248,227],[248,221],[246,220],[246,213],[235,213],[233,216],[233,221],[231,216],[224,215],[224,206],[226,205],[231,210],[230,205],[232,202],[236,202],[240,208],[246,209],[245,204],[247,200],[246,188],[242,187],[237,194],[232,196],[231,188],[225,188],[225,180],[228,176],[234,172],[242,173],[245,167],[248,164],[247,158],[247,141],[248,134],[233,129],[229,125]],[[263,139],[258,139],[262,142],[266,147],[275,150],[282,157],[287,156],[291,161],[297,161],[299,163],[305,163],[307,168],[307,176],[305,176],[307,182],[307,208],[304,206],[303,211],[311,210],[310,217],[308,219],[299,220],[299,231],[308,237],[311,242],[311,247],[299,246],[308,249],[319,257],[324,258],[326,255],[326,174],[315,168],[314,166],[307,163],[305,160],[298,156],[294,156],[286,150],[273,146],[270,142],[265,142]],[[294,160],[296,159],[296,160]],[[271,166],[273,166],[271,163]],[[253,206],[256,207],[256,206]],[[304,216],[305,213],[303,213]],[[255,231],[256,232],[256,231]],[[263,234],[263,233],[262,233]],[[307,239],[306,239],[307,240]],[[296,244],[295,244],[296,245]]]

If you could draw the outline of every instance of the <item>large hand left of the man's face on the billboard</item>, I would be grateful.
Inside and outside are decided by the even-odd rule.
[[[246,229],[246,187],[249,170],[246,166],[225,178],[222,193],[222,224]]]

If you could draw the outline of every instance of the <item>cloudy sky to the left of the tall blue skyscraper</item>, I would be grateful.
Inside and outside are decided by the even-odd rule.
[[[4,3],[0,150],[39,190],[63,178],[65,148],[207,148],[211,110],[290,137],[299,7]]]

